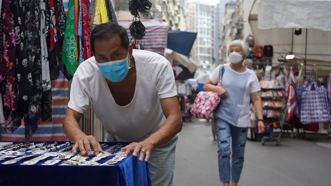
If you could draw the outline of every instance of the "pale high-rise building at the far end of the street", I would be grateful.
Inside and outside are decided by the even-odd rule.
[[[187,7],[187,31],[198,33],[191,57],[197,62],[198,69],[210,73],[218,52],[218,45],[215,45],[215,11],[218,10],[204,2],[188,3]]]

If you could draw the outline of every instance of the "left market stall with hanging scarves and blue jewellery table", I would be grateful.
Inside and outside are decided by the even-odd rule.
[[[70,80],[92,56],[92,25],[117,22],[111,1],[0,5],[0,140],[7,141],[0,143],[0,185],[151,185],[148,164],[119,152],[128,143],[101,143],[98,156],[73,154],[62,129]],[[93,132],[91,113],[80,125],[87,135]]]

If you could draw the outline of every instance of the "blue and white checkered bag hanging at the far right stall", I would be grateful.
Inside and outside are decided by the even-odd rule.
[[[303,124],[331,121],[331,104],[325,87],[302,92],[300,121]]]

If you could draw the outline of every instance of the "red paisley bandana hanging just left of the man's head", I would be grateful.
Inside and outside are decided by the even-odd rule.
[[[90,48],[90,28],[88,26],[87,1],[81,0],[83,14],[83,58],[86,60],[92,56]]]

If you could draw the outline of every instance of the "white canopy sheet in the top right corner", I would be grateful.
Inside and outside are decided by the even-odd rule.
[[[258,28],[331,30],[331,0],[258,0]]]

